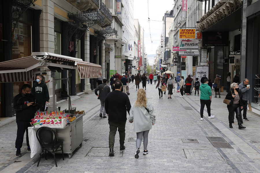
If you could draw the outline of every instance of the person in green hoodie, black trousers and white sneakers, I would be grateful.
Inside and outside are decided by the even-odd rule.
[[[208,85],[209,80],[204,79],[204,83],[200,85],[200,120],[203,120],[203,112],[205,105],[207,106],[207,112],[210,118],[214,118],[214,115],[210,114],[210,105],[211,105],[211,88]]]

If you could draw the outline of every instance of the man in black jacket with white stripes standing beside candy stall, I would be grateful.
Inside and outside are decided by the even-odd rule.
[[[23,136],[26,131],[27,151],[31,151],[28,138],[28,127],[31,127],[31,119],[34,118],[36,112],[36,104],[34,104],[34,96],[31,95],[31,86],[24,84],[21,93],[14,97],[14,110],[16,111],[17,136],[15,141],[16,157],[21,157],[21,147],[23,144]]]

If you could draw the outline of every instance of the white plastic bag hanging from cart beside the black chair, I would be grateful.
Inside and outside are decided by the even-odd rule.
[[[31,148],[31,158],[38,155],[42,151],[42,147],[36,137],[36,130],[33,127],[28,127],[29,145]]]

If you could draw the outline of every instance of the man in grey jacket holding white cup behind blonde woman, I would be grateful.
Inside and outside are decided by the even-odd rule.
[[[247,111],[247,103],[248,103],[248,98],[249,98],[249,88],[248,86],[249,80],[247,78],[244,79],[244,81],[238,85],[239,90],[242,91],[243,93],[243,101],[244,101],[244,106],[243,106],[243,120],[249,121],[249,119],[246,118],[246,111]]]

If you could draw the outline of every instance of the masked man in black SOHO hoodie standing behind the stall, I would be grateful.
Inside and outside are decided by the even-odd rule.
[[[36,83],[33,84],[31,94],[36,98],[36,102],[38,103],[36,106],[36,111],[40,109],[40,111],[45,111],[45,104],[49,103],[49,91],[45,82],[41,82],[42,76],[36,76]]]

